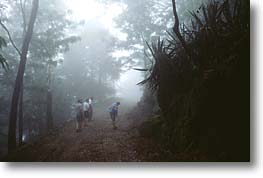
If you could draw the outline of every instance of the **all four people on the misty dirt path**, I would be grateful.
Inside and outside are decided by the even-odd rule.
[[[108,112],[112,120],[113,129],[117,129],[116,117],[118,116],[118,107],[120,102],[115,102],[108,107]],[[93,97],[87,98],[86,100],[78,99],[76,107],[76,131],[81,132],[82,128],[88,125],[87,122],[92,121],[93,116]]]

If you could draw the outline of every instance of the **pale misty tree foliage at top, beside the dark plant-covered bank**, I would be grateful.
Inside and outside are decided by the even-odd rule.
[[[115,0],[118,1],[118,0]],[[207,0],[178,0],[179,18],[185,24],[190,24],[188,10],[198,8]],[[173,25],[171,0],[124,0],[127,7],[115,19],[122,32],[127,34],[127,41],[117,44],[119,48],[132,51],[132,65],[149,67],[151,63],[145,60],[150,56],[145,41],[151,41],[157,36],[165,37],[165,30]],[[139,47],[138,47],[139,46]]]

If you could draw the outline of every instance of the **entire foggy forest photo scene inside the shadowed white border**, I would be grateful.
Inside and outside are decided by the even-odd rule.
[[[0,161],[250,161],[249,0],[0,0]]]

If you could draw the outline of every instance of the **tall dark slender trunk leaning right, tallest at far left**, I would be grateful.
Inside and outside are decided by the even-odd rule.
[[[11,109],[9,114],[9,130],[8,130],[8,151],[13,151],[16,148],[16,120],[17,120],[17,108],[18,100],[20,95],[20,90],[22,87],[25,66],[27,61],[27,53],[30,41],[32,39],[34,24],[36,21],[37,11],[39,6],[39,0],[34,0],[30,15],[30,20],[27,28],[25,38],[23,40],[22,52],[20,56],[20,63],[18,68],[18,73],[16,76],[15,87],[12,96]]]

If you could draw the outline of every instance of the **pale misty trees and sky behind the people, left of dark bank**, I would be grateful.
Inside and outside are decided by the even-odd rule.
[[[8,70],[0,68],[4,147],[19,50],[32,2],[0,1],[0,54],[8,59]],[[189,11],[204,2],[177,0],[180,20],[190,24]],[[23,118],[23,139],[38,138],[50,124],[58,126],[74,119],[74,103],[80,98],[94,97],[98,119],[116,101],[121,102],[121,114],[131,110],[145,93],[145,86],[137,84],[153,65],[146,42],[164,38],[173,21],[170,0],[41,0],[27,55],[22,102],[17,108]]]

